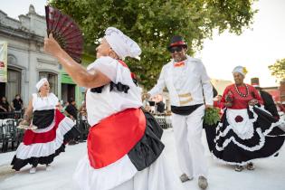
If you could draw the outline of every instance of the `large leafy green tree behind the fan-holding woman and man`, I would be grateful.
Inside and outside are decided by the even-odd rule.
[[[193,55],[214,29],[240,34],[252,24],[254,0],[51,0],[50,4],[81,25],[85,50],[94,46],[109,26],[118,27],[141,47],[140,62],[126,61],[140,84],[152,87],[170,54],[174,34],[184,36]]]

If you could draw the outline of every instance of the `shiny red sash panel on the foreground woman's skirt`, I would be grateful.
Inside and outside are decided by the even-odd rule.
[[[141,109],[126,109],[90,128],[87,147],[90,166],[99,169],[128,154],[144,136],[146,117]]]

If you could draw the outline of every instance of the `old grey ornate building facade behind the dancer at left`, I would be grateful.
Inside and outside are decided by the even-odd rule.
[[[45,16],[37,14],[33,5],[28,14],[19,15],[19,20],[0,10],[0,41],[8,43],[7,82],[0,82],[0,97],[5,96],[11,102],[20,94],[27,106],[32,93],[36,92],[36,82],[45,77],[60,100],[73,98],[80,106],[83,90],[62,71],[55,58],[43,51],[44,36]]]

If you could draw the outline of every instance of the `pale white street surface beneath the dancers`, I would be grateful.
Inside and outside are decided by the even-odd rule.
[[[205,145],[205,139],[204,145]],[[163,141],[166,144],[166,158],[169,166],[180,175],[174,147],[172,129],[165,130]],[[52,171],[45,171],[39,166],[35,175],[29,174],[29,166],[20,172],[10,169],[9,162],[14,153],[0,154],[0,189],[1,190],[71,190],[76,189],[72,174],[78,160],[86,152],[86,143],[68,146],[66,152],[56,157]],[[254,171],[243,170],[237,173],[233,166],[225,166],[214,160],[206,149],[209,165],[208,190],[284,190],[285,189],[285,148],[282,147],[279,157],[255,161]],[[185,189],[198,190],[196,180],[186,182]]]

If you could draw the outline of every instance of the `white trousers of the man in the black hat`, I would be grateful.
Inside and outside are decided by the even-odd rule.
[[[207,176],[202,144],[204,108],[202,105],[188,116],[172,114],[178,164],[189,177]]]

